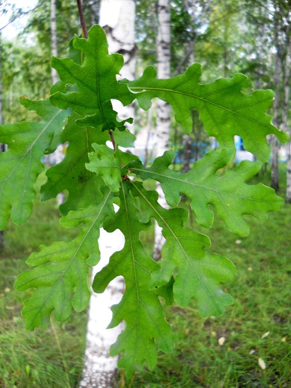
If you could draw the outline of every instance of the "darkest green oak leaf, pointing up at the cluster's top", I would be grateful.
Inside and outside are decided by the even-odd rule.
[[[108,54],[108,44],[105,32],[100,26],[93,26],[88,32],[88,39],[73,39],[73,46],[83,52],[85,59],[82,65],[69,58],[55,58],[51,60],[59,77],[65,83],[77,84],[78,92],[57,92],[50,97],[50,101],[58,108],[68,107],[83,116],[77,121],[81,127],[92,126],[103,130],[115,128],[125,129],[126,121],[120,121],[113,111],[111,99],[117,99],[123,105],[128,105],[135,97],[128,86],[116,81],[116,75],[123,66],[120,54]]]

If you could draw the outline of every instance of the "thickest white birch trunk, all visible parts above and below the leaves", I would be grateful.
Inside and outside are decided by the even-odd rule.
[[[99,24],[105,29],[111,53],[118,52],[124,56],[121,78],[134,79],[135,52],[134,41],[134,0],[101,0]],[[117,101],[118,102],[118,101]],[[122,118],[133,117],[134,106],[123,107],[115,104],[113,109]],[[128,128],[133,131],[131,125]],[[114,135],[114,133],[113,133]],[[124,236],[119,230],[106,233],[101,230],[99,247],[101,260],[93,268],[92,280],[96,273],[109,261],[115,251],[124,246]],[[115,387],[118,357],[110,357],[110,346],[122,332],[123,324],[114,329],[106,329],[112,318],[110,307],[122,298],[124,292],[123,278],[115,278],[102,294],[92,292],[87,330],[84,369],[81,387],[113,388]]]

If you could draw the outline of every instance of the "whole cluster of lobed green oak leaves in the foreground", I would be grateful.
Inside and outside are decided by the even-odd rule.
[[[124,296],[112,307],[110,327],[124,320],[126,329],[113,344],[111,354],[121,353],[119,367],[131,376],[144,365],[155,367],[157,348],[163,352],[173,348],[173,334],[160,297],[166,304],[175,300],[180,306],[194,298],[203,317],[220,314],[232,303],[221,283],[236,275],[235,267],[225,257],[207,251],[207,236],[184,226],[188,212],[177,207],[180,194],[190,198],[200,225],[211,226],[211,204],[230,231],[246,236],[249,229],[243,214],[266,220],[269,211],[283,205],[272,189],[245,182],[269,159],[266,135],[275,134],[282,143],[288,136],[276,129],[265,113],[274,93],[242,93],[248,87],[242,74],[200,84],[198,64],[168,80],[158,80],[155,69],[149,66],[138,80],[118,82],[116,74],[122,65],[121,55],[108,54],[102,29],[93,26],[87,40],[72,40],[69,58],[52,59],[61,81],[52,87],[51,96],[41,101],[20,99],[42,121],[0,127],[0,142],[8,145],[0,154],[0,230],[10,217],[16,224],[28,219],[35,197],[33,184],[44,169],[43,155],[68,142],[65,159],[47,171],[41,195],[47,200],[66,190],[60,222],[64,227],[81,224],[80,234],[71,242],[42,245],[40,252],[32,253],[27,264],[34,268],[18,276],[15,288],[36,289],[22,311],[28,330],[45,328],[53,310],[57,320],[65,321],[72,307],[81,311],[88,305],[87,274],[89,266],[99,260],[99,227],[108,232],[120,229],[124,248],[96,275],[93,290],[104,291],[117,275],[125,279]],[[191,109],[198,109],[205,131],[219,142],[217,150],[195,162],[186,174],[169,168],[175,156],[172,151],[146,167],[138,157],[118,148],[133,145],[134,136],[124,126],[132,119],[119,120],[111,99],[123,105],[136,99],[146,110],[154,97],[172,106],[184,133],[192,130]],[[110,132],[115,151],[106,146]],[[232,167],[234,135],[242,137],[244,148],[260,162],[244,161]],[[218,176],[222,168],[224,173]],[[143,180],[149,178],[161,183],[170,209],[159,205],[157,192],[144,188]],[[116,213],[113,203],[119,206]],[[139,240],[140,231],[147,230],[152,219],[162,227],[166,239],[159,262],[147,255]]]

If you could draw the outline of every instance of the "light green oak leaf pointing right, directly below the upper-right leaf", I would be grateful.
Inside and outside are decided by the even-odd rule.
[[[188,196],[200,225],[212,225],[213,211],[208,209],[208,204],[211,204],[217,209],[217,214],[225,221],[228,229],[243,237],[249,233],[249,226],[243,214],[266,220],[267,213],[279,210],[284,201],[273,189],[262,183],[245,183],[258,173],[261,162],[243,161],[237,167],[228,168],[222,176],[217,176],[217,170],[232,162],[233,156],[233,151],[226,148],[210,151],[194,163],[191,171],[182,174],[169,169],[175,153],[166,151],[149,168],[139,161],[130,162],[129,168],[143,179],[152,178],[161,182],[170,206],[178,205],[180,194]]]

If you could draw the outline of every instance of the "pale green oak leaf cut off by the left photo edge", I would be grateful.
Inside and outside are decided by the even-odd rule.
[[[43,120],[0,126],[0,142],[8,145],[8,150],[0,153],[0,230],[7,225],[10,214],[16,224],[23,224],[31,215],[33,185],[44,170],[41,159],[58,145],[56,139],[68,115],[68,111],[52,106],[49,99],[21,97],[20,102]]]

